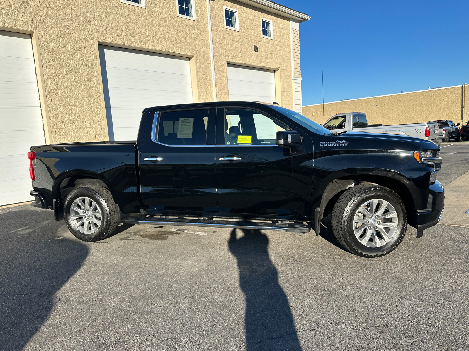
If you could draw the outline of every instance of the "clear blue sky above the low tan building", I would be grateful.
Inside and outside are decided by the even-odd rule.
[[[469,83],[469,1],[276,0],[300,24],[303,105]]]

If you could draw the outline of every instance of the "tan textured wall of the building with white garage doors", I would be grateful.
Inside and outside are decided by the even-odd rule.
[[[178,17],[175,0],[146,0],[145,6],[120,0],[0,0],[0,29],[30,33],[36,40],[48,142],[107,139],[98,42],[193,57],[199,101],[213,100],[206,1],[195,0],[196,21]],[[239,10],[239,32],[224,28],[223,6]],[[289,19],[225,0],[211,1],[211,16],[217,99],[228,100],[228,61],[279,70],[281,102],[292,108]],[[261,17],[273,21],[274,40],[261,37]]]

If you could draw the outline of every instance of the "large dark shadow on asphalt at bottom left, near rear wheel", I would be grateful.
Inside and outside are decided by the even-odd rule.
[[[34,210],[0,214],[2,350],[23,350],[53,310],[54,294],[88,256],[86,245],[57,235],[63,222],[50,216]]]

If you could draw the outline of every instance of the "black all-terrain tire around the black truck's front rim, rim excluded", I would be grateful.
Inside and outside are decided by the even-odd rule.
[[[392,238],[379,247],[363,245],[354,231],[356,212],[364,202],[372,199],[390,203],[398,219]],[[393,190],[377,184],[361,184],[348,189],[337,200],[332,212],[332,228],[335,238],[344,249],[358,256],[379,257],[387,255],[401,243],[407,230],[407,214],[401,197]]]

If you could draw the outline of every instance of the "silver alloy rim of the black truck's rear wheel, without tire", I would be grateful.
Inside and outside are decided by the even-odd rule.
[[[93,199],[78,197],[70,206],[72,225],[83,234],[93,234],[101,226],[101,209]]]

